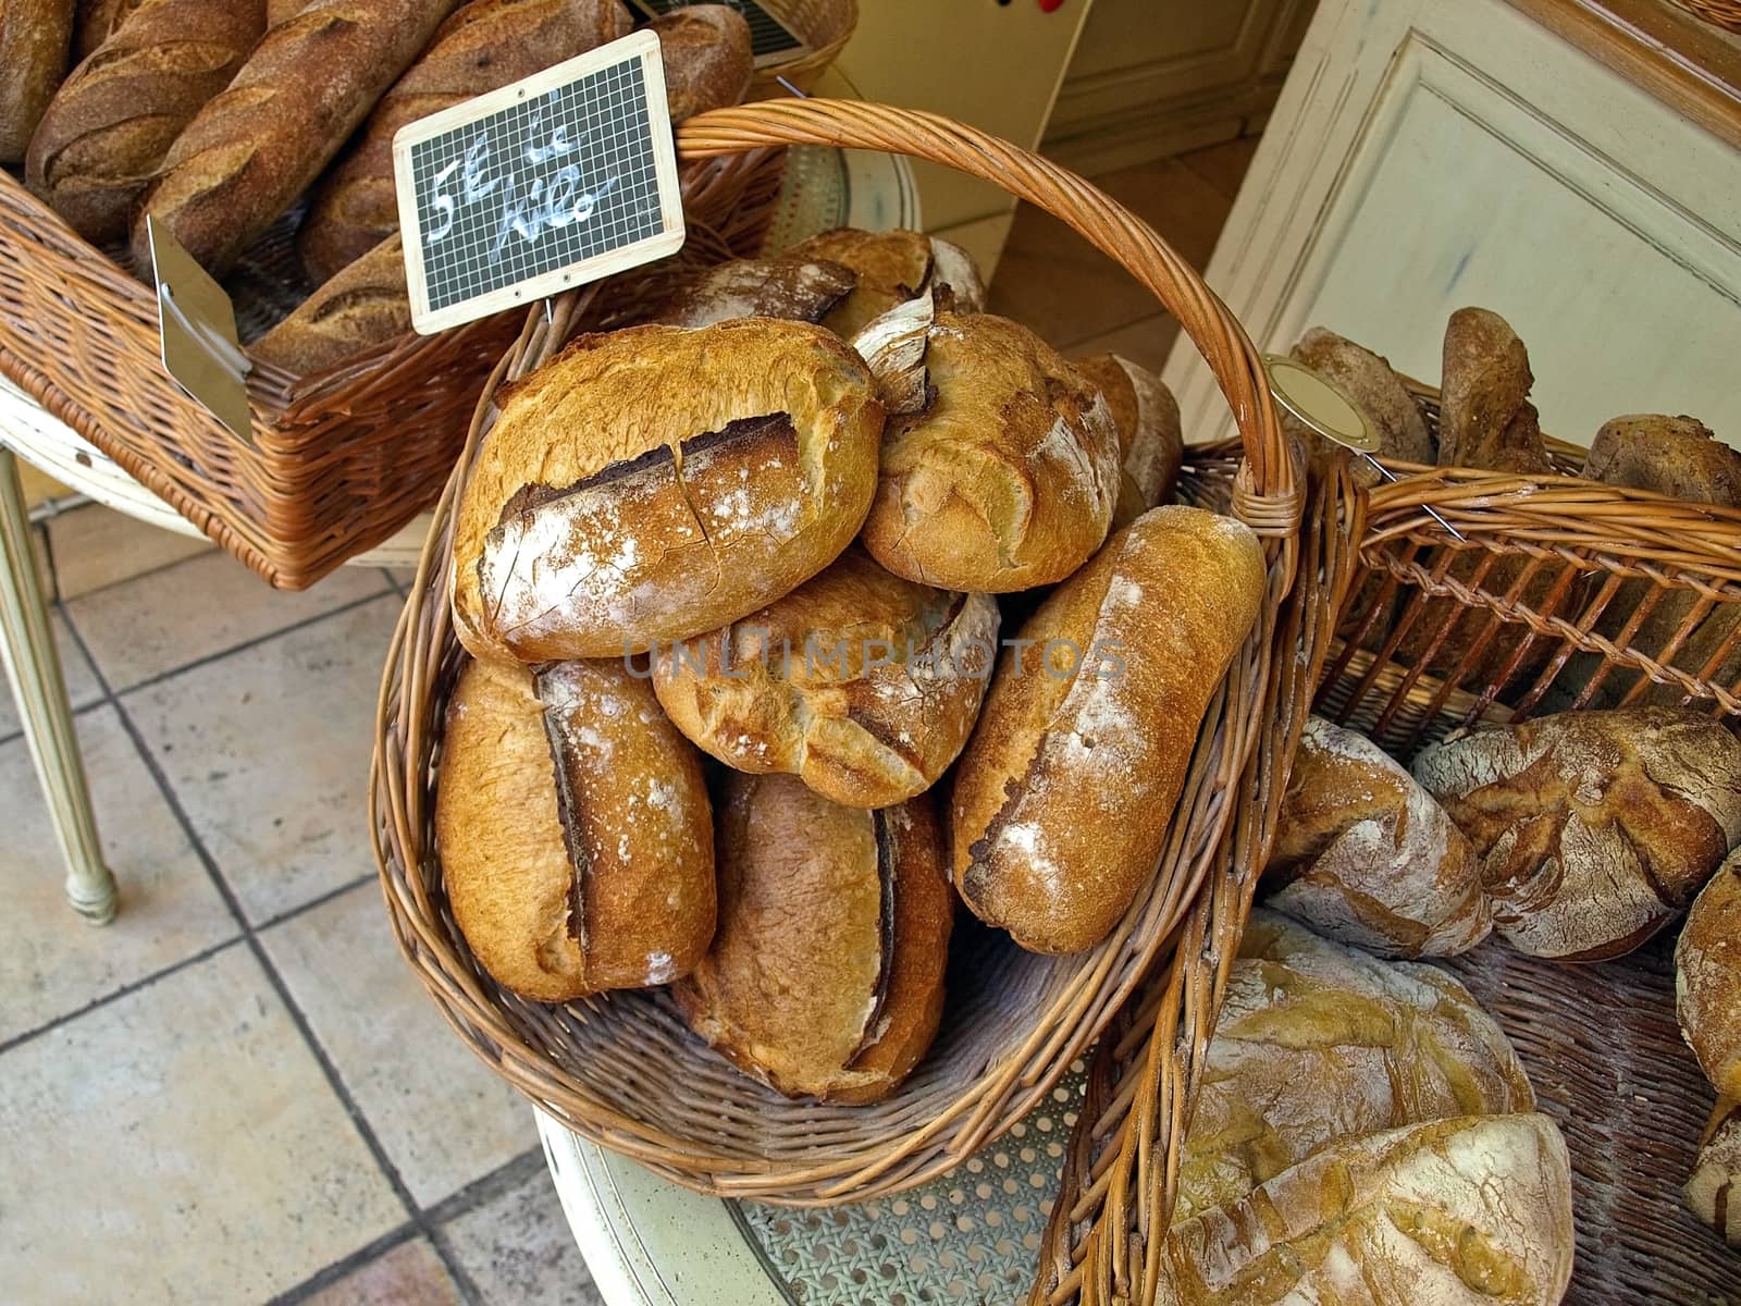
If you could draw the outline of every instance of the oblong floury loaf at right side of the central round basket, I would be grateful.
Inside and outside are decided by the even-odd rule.
[[[1118,925],[1262,597],[1255,535],[1165,507],[1041,604],[956,766],[954,879],[975,916],[1036,953],[1079,953]]]

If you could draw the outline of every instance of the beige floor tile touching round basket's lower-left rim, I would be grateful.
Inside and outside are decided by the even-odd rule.
[[[538,1146],[531,1104],[467,1050],[400,958],[374,883],[261,942],[418,1205]]]

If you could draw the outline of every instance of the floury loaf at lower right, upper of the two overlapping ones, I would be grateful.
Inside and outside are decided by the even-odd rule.
[[[1173,1221],[1240,1202],[1342,1139],[1534,1109],[1511,1043],[1455,979],[1259,909],[1208,1047]]]

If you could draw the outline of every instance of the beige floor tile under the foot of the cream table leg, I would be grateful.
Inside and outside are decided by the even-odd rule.
[[[78,742],[120,881],[120,914],[96,930],[66,905],[66,871],[30,749],[23,738],[0,745],[0,1043],[237,933],[115,709],[82,716]],[[0,1226],[3,1207],[0,1198]]]

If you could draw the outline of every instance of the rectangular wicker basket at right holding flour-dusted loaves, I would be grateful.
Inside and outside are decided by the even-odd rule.
[[[1435,399],[1421,392],[1429,425]],[[1551,453],[1567,472],[1584,454],[1563,442]],[[1361,496],[1361,568],[1346,590],[1316,712],[1370,733],[1403,761],[1462,724],[1590,703],[1654,697],[1741,714],[1732,679],[1741,658],[1729,656],[1741,620],[1732,637],[1699,651],[1699,665],[1677,665],[1689,662],[1687,634],[1710,613],[1741,618],[1741,512],[1574,475],[1393,470],[1407,475]],[[1647,618],[1664,604],[1684,616],[1650,637]],[[1426,674],[1424,663],[1443,662],[1436,651],[1452,630],[1464,651]],[[1395,658],[1405,641],[1421,653],[1412,665]],[[1724,674],[1713,676],[1718,663]],[[1518,1048],[1572,1153],[1569,1303],[1741,1301],[1741,1257],[1680,1198],[1715,1092],[1680,1040],[1671,947],[1659,937],[1631,956],[1574,966],[1489,940],[1449,963]],[[1172,1111],[1151,1106],[1177,1057],[1172,1001],[1165,980],[1147,991],[1090,1067],[1090,1106],[1065,1175],[1081,1222],[1069,1240],[1059,1231],[1052,1240],[1043,1289],[1053,1303],[1154,1301],[1147,1254],[1160,1240],[1137,1231],[1170,1222],[1189,1120],[1177,1097]]]

